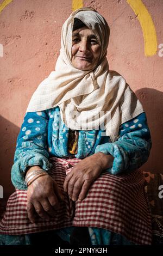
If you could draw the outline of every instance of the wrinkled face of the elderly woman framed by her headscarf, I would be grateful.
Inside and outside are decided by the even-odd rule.
[[[94,69],[98,63],[101,46],[95,34],[88,28],[82,27],[72,33],[72,64],[80,70]]]

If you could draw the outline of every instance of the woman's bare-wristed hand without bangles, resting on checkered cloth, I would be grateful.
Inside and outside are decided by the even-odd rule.
[[[112,166],[113,160],[114,157],[101,152],[86,157],[67,174],[64,191],[73,201],[83,200],[92,182],[104,169]]]

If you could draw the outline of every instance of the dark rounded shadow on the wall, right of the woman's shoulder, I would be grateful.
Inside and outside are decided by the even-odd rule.
[[[142,170],[163,174],[163,93],[150,88],[142,88],[135,93],[146,112],[152,137],[151,155]]]

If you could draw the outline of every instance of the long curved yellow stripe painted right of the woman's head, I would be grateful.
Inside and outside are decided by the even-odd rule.
[[[127,0],[137,15],[145,40],[145,56],[153,56],[158,48],[157,36],[151,15],[141,0]]]

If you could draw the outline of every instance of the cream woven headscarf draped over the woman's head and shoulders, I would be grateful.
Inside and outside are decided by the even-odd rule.
[[[101,56],[94,70],[83,71],[71,63],[74,18],[91,29],[101,45]],[[119,126],[143,112],[142,105],[126,80],[109,70],[106,53],[109,26],[92,8],[80,8],[66,20],[61,33],[61,50],[55,71],[40,83],[27,112],[59,106],[61,119],[73,130],[93,130],[104,124],[106,135],[114,142]]]

